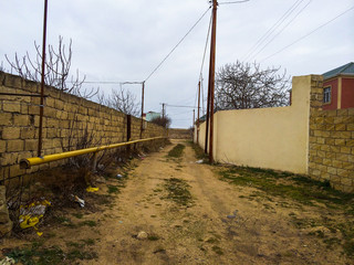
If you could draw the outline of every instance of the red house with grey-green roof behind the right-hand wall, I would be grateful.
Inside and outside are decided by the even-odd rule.
[[[323,109],[354,107],[354,63],[323,74]]]

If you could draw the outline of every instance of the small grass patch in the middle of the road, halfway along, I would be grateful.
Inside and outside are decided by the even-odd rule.
[[[192,203],[192,198],[189,192],[190,186],[181,179],[165,179],[165,189],[167,190],[167,199],[173,200],[179,205],[188,205]]]

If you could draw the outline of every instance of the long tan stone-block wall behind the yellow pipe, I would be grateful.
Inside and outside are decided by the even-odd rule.
[[[40,84],[0,72],[0,92],[40,93]],[[51,155],[67,150],[85,131],[94,136],[97,145],[126,140],[126,116],[100,104],[45,87],[43,116],[43,152]],[[19,168],[22,158],[37,156],[39,134],[39,97],[0,95],[0,179],[32,173],[40,168],[55,167],[61,162]],[[140,119],[132,117],[132,139],[138,139]],[[163,127],[146,123],[143,138],[165,136]],[[71,139],[71,140],[70,140]]]

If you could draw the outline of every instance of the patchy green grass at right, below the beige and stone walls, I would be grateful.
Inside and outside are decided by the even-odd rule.
[[[334,190],[327,181],[316,181],[289,172],[244,167],[221,168],[218,173],[221,180],[229,183],[258,189],[259,191],[253,192],[249,199],[252,199],[251,197],[254,199],[269,195],[280,197],[304,205],[324,205],[326,209],[340,211],[343,215],[354,216],[354,194]],[[292,224],[299,230],[326,227],[327,232],[315,230],[309,235],[317,237],[329,248],[340,245],[346,256],[354,256],[354,221],[343,223],[327,216],[300,219],[294,213],[290,213],[289,216]]]

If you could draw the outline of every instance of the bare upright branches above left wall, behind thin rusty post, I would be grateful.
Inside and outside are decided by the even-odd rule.
[[[41,46],[35,42],[34,47],[37,52],[34,59],[30,56],[29,52],[22,57],[15,53],[13,61],[11,61],[8,55],[6,55],[6,59],[11,66],[11,72],[13,71],[25,80],[40,82],[42,52]],[[59,36],[56,51],[53,45],[49,45],[45,54],[44,82],[46,85],[54,86],[62,92],[83,98],[92,98],[98,93],[98,88],[84,88],[83,83],[85,82],[85,76],[81,77],[79,70],[76,70],[75,75],[71,75],[72,54],[72,40],[70,40],[67,49],[63,43],[62,36]]]

